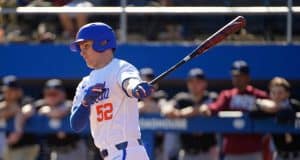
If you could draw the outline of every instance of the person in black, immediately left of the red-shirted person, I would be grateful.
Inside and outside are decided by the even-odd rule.
[[[180,110],[187,107],[199,107],[212,103],[217,94],[207,91],[207,81],[202,69],[193,68],[187,77],[189,93],[178,93],[175,96],[175,108],[166,114],[171,118],[187,118],[181,116]],[[182,133],[180,134],[181,151],[179,160],[217,160],[219,149],[215,134],[210,133]]]

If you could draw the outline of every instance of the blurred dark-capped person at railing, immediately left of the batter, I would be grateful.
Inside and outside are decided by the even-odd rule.
[[[61,121],[67,118],[71,101],[66,100],[66,93],[61,80],[48,80],[44,87],[44,98],[35,103],[38,113],[47,116],[49,127],[57,129]],[[57,131],[46,135],[46,146],[43,152],[50,153],[51,160],[85,160],[87,158],[86,144],[75,133]]]

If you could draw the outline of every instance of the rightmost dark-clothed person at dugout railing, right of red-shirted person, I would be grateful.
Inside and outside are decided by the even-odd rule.
[[[275,101],[280,110],[277,113],[278,123],[294,124],[296,112],[300,112],[300,102],[290,98],[291,86],[281,77],[271,80],[270,98]],[[273,134],[273,142],[276,147],[276,160],[299,160],[300,159],[300,135],[285,133]]]

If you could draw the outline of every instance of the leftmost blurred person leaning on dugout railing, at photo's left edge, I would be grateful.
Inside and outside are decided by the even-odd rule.
[[[31,115],[22,113],[22,106],[32,101],[24,96],[21,85],[15,76],[3,78],[2,92],[4,100],[0,103],[0,119],[9,123],[14,120],[13,129],[6,132],[7,138],[1,142],[6,142],[4,149],[4,160],[35,160],[39,146],[34,134],[26,133],[24,125]],[[1,132],[3,134],[4,132]],[[3,148],[3,146],[1,147]]]

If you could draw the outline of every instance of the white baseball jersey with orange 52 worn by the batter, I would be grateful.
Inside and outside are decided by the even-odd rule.
[[[79,106],[85,90],[100,83],[103,94],[90,108],[90,127],[95,145],[106,148],[127,140],[140,138],[137,99],[126,95],[122,82],[140,79],[137,69],[126,61],[114,58],[101,69],[93,70],[79,83],[73,107]]]

